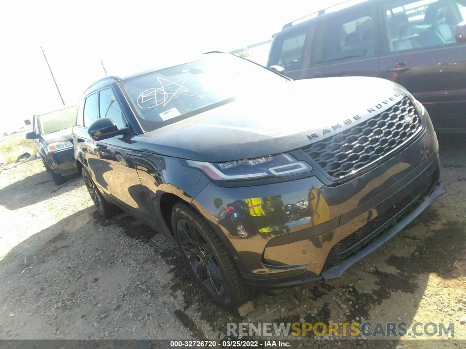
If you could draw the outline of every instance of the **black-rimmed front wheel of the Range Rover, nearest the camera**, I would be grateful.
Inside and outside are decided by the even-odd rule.
[[[233,257],[207,221],[184,202],[171,213],[173,233],[186,267],[210,299],[228,310],[251,297]]]

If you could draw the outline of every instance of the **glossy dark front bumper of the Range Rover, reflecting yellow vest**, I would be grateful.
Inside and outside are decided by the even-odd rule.
[[[329,183],[315,172],[246,188],[211,182],[192,205],[210,221],[250,287],[280,289],[342,275],[443,193],[438,142],[428,122],[408,148],[352,180]],[[260,202],[261,210],[245,202]]]

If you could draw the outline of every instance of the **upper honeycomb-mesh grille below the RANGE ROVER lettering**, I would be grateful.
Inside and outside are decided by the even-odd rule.
[[[405,120],[407,116],[411,122]],[[421,128],[416,108],[405,97],[383,113],[303,150],[327,174],[340,179],[381,160]]]

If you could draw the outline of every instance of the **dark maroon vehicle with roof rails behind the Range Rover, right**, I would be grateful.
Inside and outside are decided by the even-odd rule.
[[[466,0],[347,1],[286,24],[267,67],[292,79],[388,79],[426,107],[437,133],[465,133],[465,20]]]

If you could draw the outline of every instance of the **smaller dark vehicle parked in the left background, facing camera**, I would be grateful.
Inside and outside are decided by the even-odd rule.
[[[71,128],[75,125],[78,106],[34,115],[33,131],[27,139],[35,140],[36,151],[56,185],[66,181],[67,175],[77,173]]]

